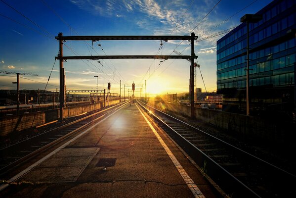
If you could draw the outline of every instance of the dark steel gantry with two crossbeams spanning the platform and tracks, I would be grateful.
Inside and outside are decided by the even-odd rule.
[[[194,59],[198,56],[194,53],[194,40],[197,40],[197,36],[195,33],[191,33],[190,36],[63,36],[63,33],[59,33],[55,39],[59,41],[59,55],[55,57],[55,59],[60,60],[60,120],[63,120],[63,106],[64,106],[64,98],[65,98],[65,70],[64,70],[64,61],[70,59],[190,59],[190,84],[194,84]],[[187,40],[191,42],[191,55],[105,55],[105,56],[63,56],[63,43],[66,41],[119,41],[119,40],[161,40],[161,41],[169,41],[169,40]],[[190,92],[190,105],[191,105],[191,116],[194,116],[194,87],[189,86]]]

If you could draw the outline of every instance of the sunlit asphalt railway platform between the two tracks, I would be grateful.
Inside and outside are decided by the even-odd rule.
[[[220,197],[175,144],[127,104],[22,172],[0,197]]]

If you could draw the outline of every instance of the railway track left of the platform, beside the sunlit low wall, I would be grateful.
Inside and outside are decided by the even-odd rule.
[[[81,129],[92,124],[95,120],[114,111],[116,107],[127,104],[128,101],[111,106],[109,108],[94,112],[73,122],[64,124],[60,127],[45,131],[44,133],[32,138],[23,140],[19,143],[0,149],[0,175],[8,170],[15,168],[27,159],[44,151],[53,145],[60,143],[64,139],[74,135]]]

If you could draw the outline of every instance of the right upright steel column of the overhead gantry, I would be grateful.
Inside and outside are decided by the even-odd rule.
[[[195,34],[192,32],[191,33],[191,66],[190,66],[190,109],[191,109],[191,117],[194,117],[194,39],[195,39]]]

